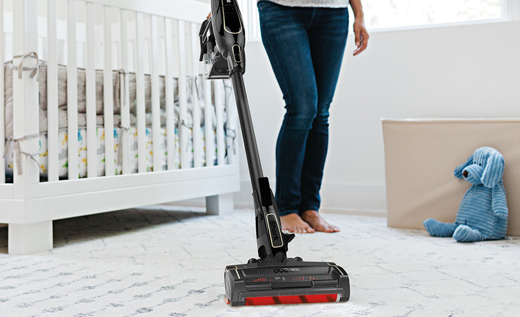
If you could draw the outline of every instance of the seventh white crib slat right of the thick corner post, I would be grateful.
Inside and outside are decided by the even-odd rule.
[[[153,170],[161,170],[161,100],[159,95],[159,31],[157,16],[151,16],[151,93],[152,93],[152,146]]]

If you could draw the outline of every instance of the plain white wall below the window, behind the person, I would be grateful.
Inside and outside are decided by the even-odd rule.
[[[331,105],[322,211],[385,212],[381,117],[520,117],[520,22],[373,32],[353,57],[349,35]],[[246,46],[245,84],[265,176],[275,186],[284,102],[262,43]],[[242,190],[251,205],[241,148]]]

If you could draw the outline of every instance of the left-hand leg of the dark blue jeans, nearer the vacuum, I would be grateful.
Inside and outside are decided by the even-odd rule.
[[[275,193],[283,216],[298,213],[305,142],[318,102],[305,23],[311,10],[298,15],[293,8],[261,1],[258,11],[262,41],[285,100],[286,113],[276,143]]]

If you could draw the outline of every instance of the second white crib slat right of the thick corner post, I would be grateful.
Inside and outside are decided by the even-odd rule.
[[[67,140],[69,179],[78,178],[76,0],[69,0],[67,15]]]

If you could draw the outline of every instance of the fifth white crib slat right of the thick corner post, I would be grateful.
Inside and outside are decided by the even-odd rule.
[[[121,89],[121,126],[126,129],[121,129],[120,138],[123,142],[120,149],[123,157],[123,174],[130,174],[132,166],[130,162],[130,90],[128,81],[128,11],[121,10],[121,64],[124,70],[123,74],[123,89]]]

